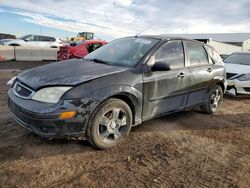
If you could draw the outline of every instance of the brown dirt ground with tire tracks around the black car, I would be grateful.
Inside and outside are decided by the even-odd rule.
[[[17,70],[5,69],[0,63],[0,187],[250,186],[250,98],[225,97],[213,116],[189,110],[147,121],[100,151],[18,126],[5,86]]]

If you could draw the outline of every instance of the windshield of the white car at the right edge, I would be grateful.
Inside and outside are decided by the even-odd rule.
[[[250,53],[235,53],[224,60],[225,63],[250,65]]]

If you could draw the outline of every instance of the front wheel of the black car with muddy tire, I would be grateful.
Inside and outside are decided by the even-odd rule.
[[[108,99],[90,117],[86,136],[96,148],[109,149],[120,144],[132,126],[130,107],[120,99]]]

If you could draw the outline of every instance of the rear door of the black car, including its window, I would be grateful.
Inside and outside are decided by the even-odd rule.
[[[206,101],[208,88],[213,80],[213,63],[202,43],[184,42],[187,66],[190,69],[189,97],[187,106]]]

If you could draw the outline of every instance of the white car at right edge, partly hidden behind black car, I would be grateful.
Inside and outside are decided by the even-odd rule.
[[[236,52],[225,60],[227,93],[250,94],[250,52]]]

